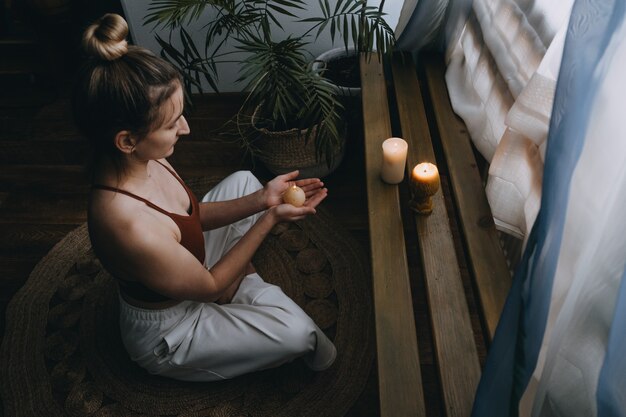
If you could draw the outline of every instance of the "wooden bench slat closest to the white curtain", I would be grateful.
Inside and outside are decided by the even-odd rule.
[[[511,275],[498,241],[469,134],[450,104],[443,60],[438,56],[425,56],[422,63],[454,198],[459,207],[468,258],[476,280],[489,340],[492,340],[511,286]]]

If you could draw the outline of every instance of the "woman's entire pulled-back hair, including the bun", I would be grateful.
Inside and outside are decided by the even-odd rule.
[[[91,141],[96,165],[107,157],[119,168],[115,135],[128,130],[141,140],[160,123],[162,104],[183,85],[174,66],[129,45],[127,36],[128,24],[112,13],[83,35],[87,57],[75,78],[72,108],[76,125]]]

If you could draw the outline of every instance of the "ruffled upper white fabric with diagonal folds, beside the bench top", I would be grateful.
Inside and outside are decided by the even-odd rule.
[[[452,104],[487,161],[504,134],[508,111],[567,23],[572,1],[554,7],[551,0],[474,0],[461,36],[447,45]]]

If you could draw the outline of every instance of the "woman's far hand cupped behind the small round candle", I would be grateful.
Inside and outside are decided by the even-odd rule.
[[[263,194],[267,207],[274,207],[283,204],[283,193],[292,185],[297,185],[302,188],[302,191],[304,191],[306,200],[303,207],[310,207],[314,209],[324,198],[326,198],[328,190],[324,188],[324,183],[320,181],[319,178],[296,180],[296,178],[298,178],[298,173],[299,171],[292,171],[287,174],[279,175],[265,185]],[[315,210],[313,210],[313,213],[315,213]],[[306,214],[303,214],[302,217]]]

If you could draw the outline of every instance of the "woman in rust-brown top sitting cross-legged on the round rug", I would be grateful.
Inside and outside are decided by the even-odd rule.
[[[84,34],[88,54],[73,97],[94,145],[88,224],[93,248],[120,287],[124,345],[153,374],[188,381],[232,378],[297,357],[328,368],[336,349],[252,256],[279,222],[315,214],[327,190],[298,172],[262,186],[249,172],[198,202],[166,158],[189,133],[179,73],[126,43],[107,14]],[[290,184],[302,207],[283,204]]]

